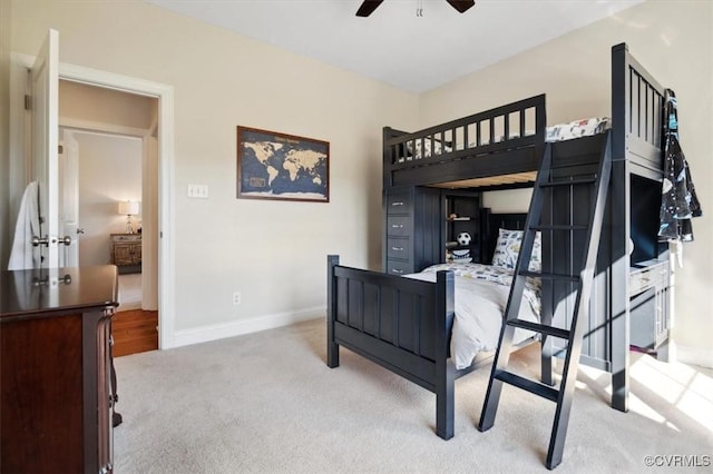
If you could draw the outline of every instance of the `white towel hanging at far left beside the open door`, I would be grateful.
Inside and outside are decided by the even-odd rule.
[[[32,246],[32,236],[40,237],[39,186],[37,181],[27,185],[18,221],[14,226],[14,240],[10,250],[9,270],[40,267],[39,247]]]

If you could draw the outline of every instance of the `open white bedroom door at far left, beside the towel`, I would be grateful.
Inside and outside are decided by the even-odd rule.
[[[59,32],[49,30],[30,78],[31,166],[39,186],[40,266],[59,266],[58,132]]]

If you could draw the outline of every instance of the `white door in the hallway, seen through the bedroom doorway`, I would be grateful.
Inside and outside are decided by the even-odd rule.
[[[70,245],[59,249],[59,265],[79,266],[79,142],[71,130],[59,130],[59,235],[70,236]]]

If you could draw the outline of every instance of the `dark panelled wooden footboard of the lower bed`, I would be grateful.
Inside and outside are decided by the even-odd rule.
[[[433,284],[343,267],[328,256],[326,365],[339,366],[344,346],[433,392],[443,440],[453,436],[453,282],[451,271],[439,271]]]

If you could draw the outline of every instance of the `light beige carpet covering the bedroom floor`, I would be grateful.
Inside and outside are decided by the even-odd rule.
[[[512,356],[520,371],[537,371],[533,349]],[[488,368],[457,382],[446,442],[433,394],[346,349],[330,369],[324,354],[313,320],[118,358],[115,473],[547,472],[553,403],[506,386],[495,426],[475,427]],[[711,472],[713,371],[632,361],[627,414],[608,407],[608,374],[580,373],[556,472]]]

